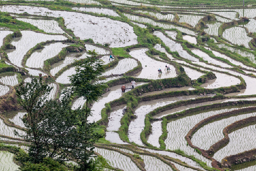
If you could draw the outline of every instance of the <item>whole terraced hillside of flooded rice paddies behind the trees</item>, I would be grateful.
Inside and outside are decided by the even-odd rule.
[[[53,88],[47,100],[61,100],[64,88],[72,86],[75,61],[95,50],[105,68],[97,79],[105,78],[100,82],[106,89],[88,104],[92,115],[87,122],[95,122],[95,130],[104,135],[94,151],[108,160],[110,170],[233,171],[234,163],[222,165],[228,156],[255,151],[256,123],[250,123],[229,133],[222,149],[206,154],[224,138],[227,126],[254,112],[216,118],[187,137],[205,119],[256,106],[254,2],[245,9],[184,0],[43,3],[0,4],[0,11],[11,17],[11,25],[0,20],[0,142],[27,151],[14,134],[25,134],[20,118],[26,111],[15,97],[20,82],[40,75]],[[249,21],[236,24],[241,17]],[[136,87],[130,89],[133,79]],[[129,89],[122,92],[122,85]],[[15,104],[7,104],[10,99]],[[86,102],[76,96],[70,105],[76,110]],[[0,171],[18,169],[13,156],[0,151]],[[236,170],[256,169],[246,164]]]

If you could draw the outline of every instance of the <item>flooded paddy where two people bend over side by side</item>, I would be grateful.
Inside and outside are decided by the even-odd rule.
[[[175,68],[172,65],[170,66],[170,70],[164,71],[166,63],[154,60],[147,56],[145,53],[148,49],[134,49],[129,54],[138,59],[142,65],[142,71],[137,73],[137,78],[148,78],[148,79],[163,79],[163,78],[173,78],[176,77]],[[162,70],[162,74],[158,73],[158,69]]]

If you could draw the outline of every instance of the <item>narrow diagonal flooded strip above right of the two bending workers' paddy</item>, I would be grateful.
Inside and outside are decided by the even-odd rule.
[[[195,58],[194,56],[189,55],[187,51],[183,50],[181,44],[176,43],[175,41],[169,39],[162,32],[155,31],[154,35],[159,37],[166,44],[166,46],[168,46],[170,48],[170,51],[178,52],[179,55],[185,59],[188,59],[191,61],[199,61],[199,59]]]

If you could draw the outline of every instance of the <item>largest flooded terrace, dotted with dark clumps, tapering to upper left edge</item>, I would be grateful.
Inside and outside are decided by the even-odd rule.
[[[109,47],[125,47],[138,43],[133,27],[125,22],[96,17],[68,11],[49,10],[44,7],[30,6],[1,6],[0,11],[23,13],[34,15],[47,15],[50,17],[63,17],[67,29],[74,31],[75,36],[80,39],[93,39],[95,43],[110,44]],[[38,13],[40,11],[40,13]],[[121,36],[120,36],[121,35]],[[33,39],[33,38],[32,38]]]

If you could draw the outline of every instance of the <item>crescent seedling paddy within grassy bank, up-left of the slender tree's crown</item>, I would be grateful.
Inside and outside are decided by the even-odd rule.
[[[26,66],[31,68],[43,68],[45,60],[58,55],[62,48],[67,46],[68,45],[62,44],[61,42],[46,45],[43,50],[38,50],[32,53],[26,61]]]

